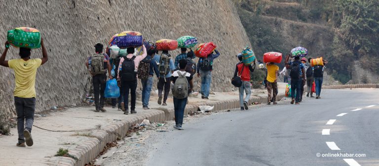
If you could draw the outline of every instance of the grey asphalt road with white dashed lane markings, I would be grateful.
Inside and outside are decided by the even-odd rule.
[[[184,131],[161,139],[147,166],[379,166],[378,119],[379,90],[324,90],[322,99],[301,105],[232,111],[185,124]]]

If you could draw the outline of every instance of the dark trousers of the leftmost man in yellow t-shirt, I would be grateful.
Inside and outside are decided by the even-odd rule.
[[[24,129],[32,133],[36,98],[14,97],[14,106],[17,113],[18,142],[23,143],[25,142]]]

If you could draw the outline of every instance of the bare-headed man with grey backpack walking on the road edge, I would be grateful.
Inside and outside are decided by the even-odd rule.
[[[175,125],[174,128],[183,130],[184,109],[187,105],[188,90],[193,87],[193,76],[186,72],[187,61],[179,61],[179,70],[173,72],[171,76],[172,95],[174,96]]]

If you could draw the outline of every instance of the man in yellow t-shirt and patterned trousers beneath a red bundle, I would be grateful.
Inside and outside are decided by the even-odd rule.
[[[276,95],[278,94],[278,84],[276,82],[278,72],[279,72],[279,66],[274,65],[274,63],[267,63],[267,92],[268,92],[268,98],[267,98],[267,105],[271,104],[271,101],[273,104],[276,104]],[[272,92],[272,98],[271,98],[271,92]]]

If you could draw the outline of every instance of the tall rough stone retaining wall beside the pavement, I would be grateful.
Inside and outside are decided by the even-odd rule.
[[[144,38],[176,39],[183,35],[213,41],[221,52],[215,61],[212,90],[229,91],[235,55],[250,45],[231,0],[0,0],[0,43],[15,27],[40,30],[49,61],[38,69],[37,110],[80,102],[90,77],[84,66],[97,42],[107,43],[121,31],[139,31]],[[3,51],[1,45],[0,51]],[[176,55],[178,51],[172,52]],[[41,57],[33,50],[32,58]],[[7,60],[18,58],[11,48]],[[0,111],[14,113],[13,71],[0,67]],[[198,85],[199,79],[195,79]]]

